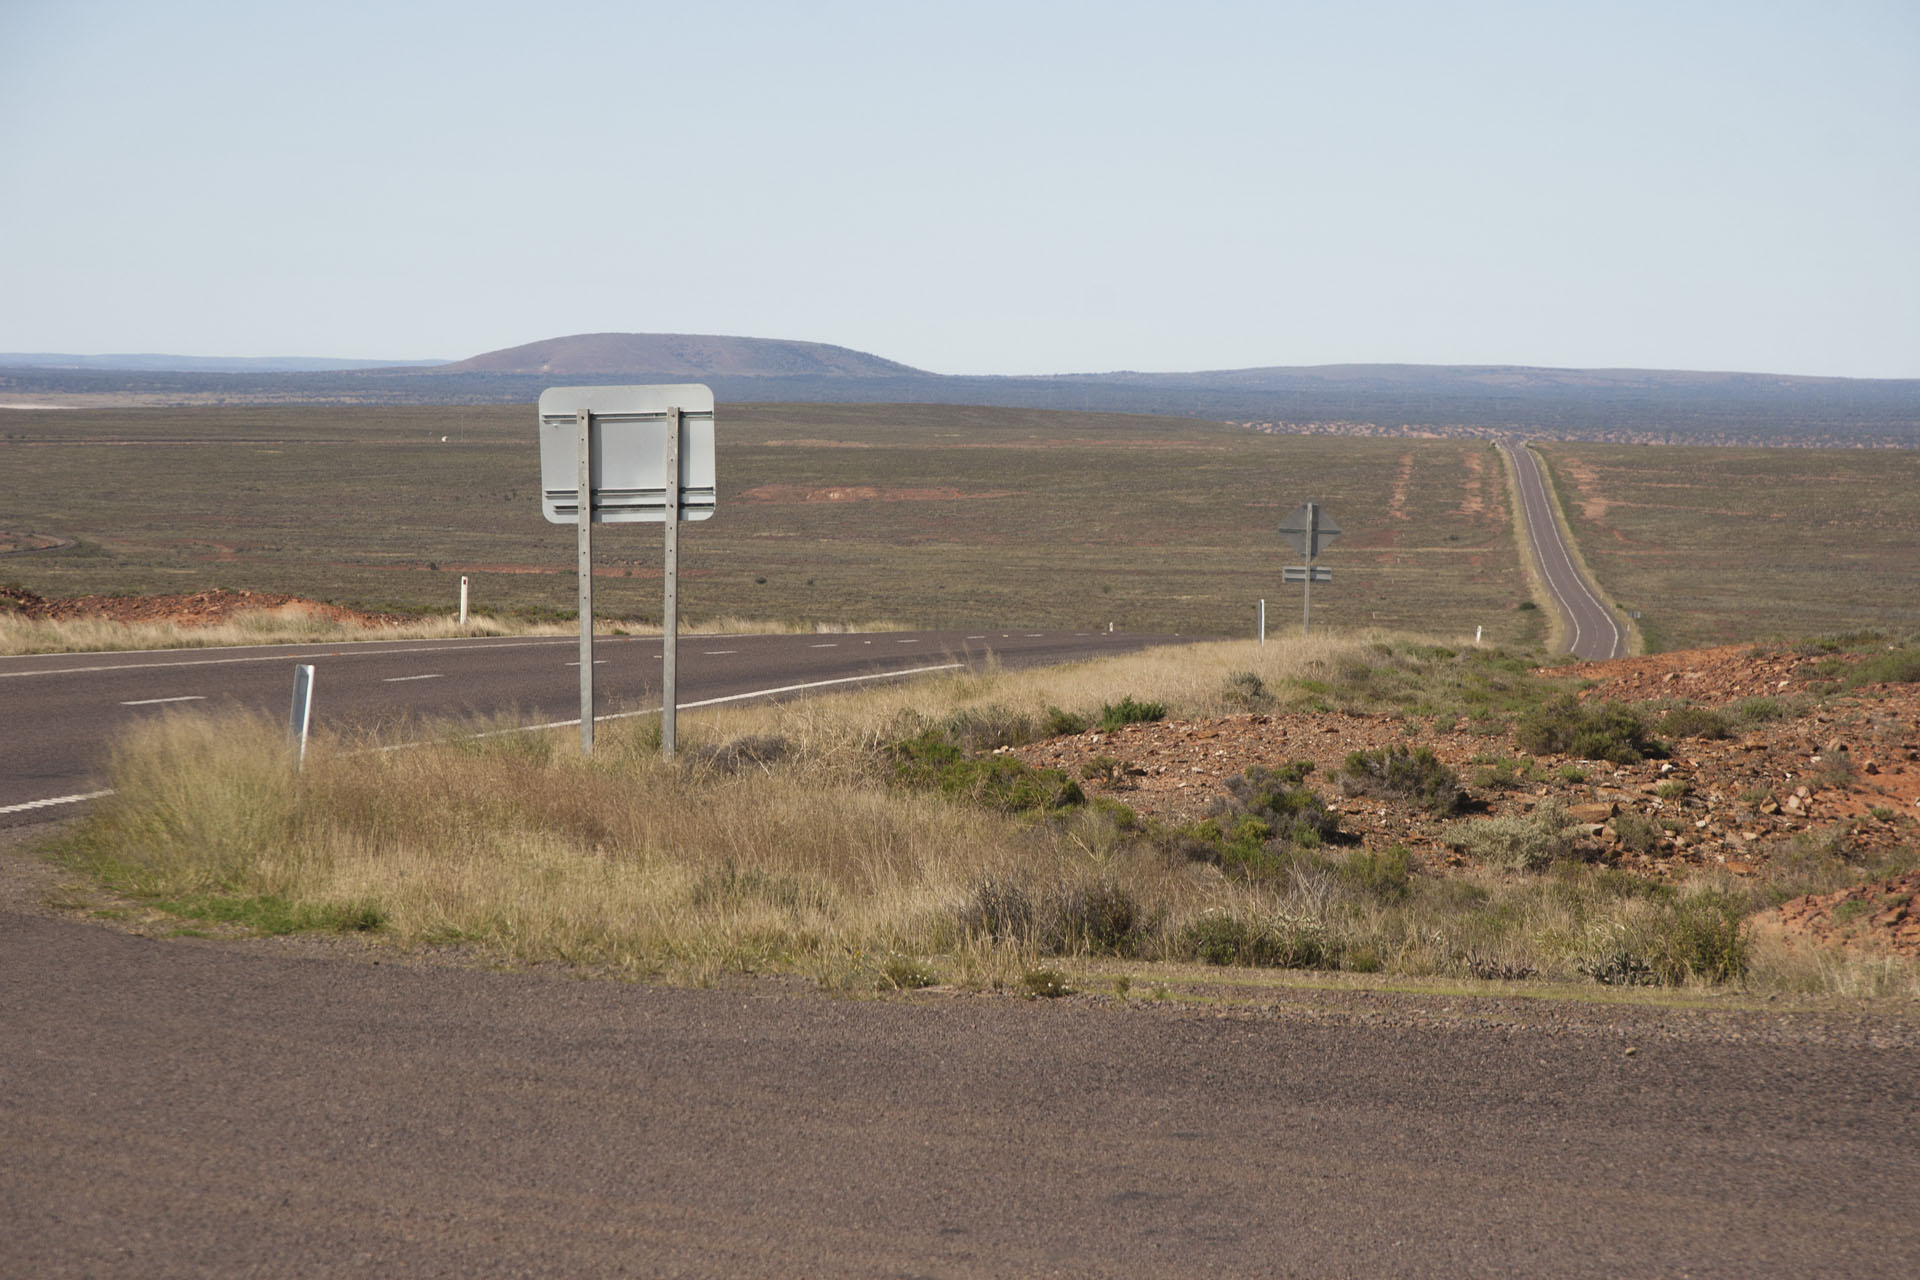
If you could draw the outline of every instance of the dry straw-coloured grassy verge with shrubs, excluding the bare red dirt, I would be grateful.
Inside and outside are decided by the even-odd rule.
[[[447,733],[409,750],[317,743],[298,773],[273,723],[173,716],[119,745],[115,794],[60,848],[186,919],[676,981],[1046,996],[1108,983],[1094,975],[1114,963],[1142,981],[1198,963],[1916,994],[1912,965],[1795,961],[1747,927],[1768,894],[1866,873],[1843,848],[1809,846],[1763,887],[1657,885],[1588,862],[1542,806],[1517,833],[1461,818],[1463,844],[1492,852],[1434,873],[1344,837],[1300,768],[1248,770],[1213,818],[1167,829],[996,752],[1108,714],[1221,714],[1254,689],[1273,708],[1517,718],[1561,683],[1513,654],[1390,637],[1221,643],[703,712],[676,762],[657,756],[657,725],[626,722],[591,758],[563,733]],[[1350,787],[1452,812],[1434,768],[1356,754]]]

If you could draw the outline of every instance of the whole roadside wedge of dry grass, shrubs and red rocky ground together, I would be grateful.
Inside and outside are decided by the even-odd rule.
[[[1914,685],[1632,764],[1515,747],[1582,683],[1388,635],[1221,643],[703,712],[678,762],[626,722],[591,760],[449,731],[319,745],[303,773],[273,725],[182,716],[121,747],[65,856],[186,917],[693,981],[1058,994],[1117,960],[1920,990],[1908,961],[1791,944],[1824,936],[1795,900],[1914,862],[1887,804],[1920,770]],[[1868,925],[1897,889],[1874,892]]]

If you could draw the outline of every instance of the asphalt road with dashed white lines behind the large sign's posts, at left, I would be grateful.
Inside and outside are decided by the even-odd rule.
[[[1171,635],[1110,631],[872,631],[682,635],[680,706],[847,689],[977,662],[1068,662]],[[0,825],[36,821],[96,791],[123,725],[180,706],[286,716],[294,666],[313,664],[313,723],[392,729],[409,720],[516,716],[578,723],[578,637],[382,641],[0,658]],[[595,641],[595,720],[659,710],[660,639]]]

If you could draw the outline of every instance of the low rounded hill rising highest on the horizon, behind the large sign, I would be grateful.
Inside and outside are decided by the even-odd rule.
[[[572,334],[442,365],[440,374],[672,374],[678,378],[927,378],[824,342],[718,334]]]

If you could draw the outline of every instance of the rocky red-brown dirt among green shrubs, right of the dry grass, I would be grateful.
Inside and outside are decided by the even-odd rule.
[[[1476,812],[1465,818],[1523,814],[1553,796],[1586,823],[1597,856],[1622,871],[1665,881],[1705,871],[1759,879],[1774,860],[1789,858],[1795,842],[1837,839],[1864,858],[1912,848],[1920,837],[1920,685],[1866,685],[1797,702],[1793,695],[1818,685],[1820,664],[1834,660],[1728,647],[1553,668],[1592,681],[1582,699],[1640,702],[1655,723],[1659,700],[1728,708],[1764,695],[1786,710],[1728,739],[1667,739],[1667,760],[1632,766],[1538,756],[1515,773],[1498,762],[1526,766],[1528,756],[1509,735],[1471,733],[1465,720],[1436,729],[1400,714],[1361,712],[1167,720],[1050,739],[1014,754],[1066,770],[1089,793],[1165,823],[1204,818],[1225,794],[1225,779],[1250,766],[1311,760],[1309,785],[1336,808],[1344,831],[1367,844],[1405,844],[1428,871],[1471,865],[1448,839],[1459,818],[1340,794],[1336,775],[1350,752],[1427,747],[1467,783]],[[1657,841],[1622,846],[1626,816],[1651,823]],[[1920,885],[1889,885],[1801,898],[1778,915],[1789,935],[1812,942],[1845,938],[1849,946],[1920,954],[1920,915],[1905,906],[1895,912],[1893,902]],[[1845,906],[1857,900],[1884,906]],[[1822,923],[1836,910],[1847,929]]]

